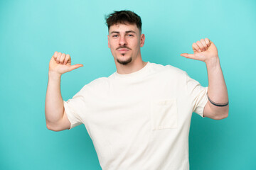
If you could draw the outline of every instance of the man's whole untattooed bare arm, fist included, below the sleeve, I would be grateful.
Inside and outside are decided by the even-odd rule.
[[[82,64],[71,66],[70,55],[60,52],[55,52],[50,59],[45,106],[46,126],[49,130],[60,131],[70,128],[60,92],[60,77],[63,73],[78,67],[82,67]]]

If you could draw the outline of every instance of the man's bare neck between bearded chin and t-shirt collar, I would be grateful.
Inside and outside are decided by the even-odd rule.
[[[117,61],[114,61],[117,67],[118,74],[130,74],[133,72],[137,72],[142,69],[146,62],[142,61],[142,57],[138,57],[137,60],[129,62],[129,64],[119,64]]]

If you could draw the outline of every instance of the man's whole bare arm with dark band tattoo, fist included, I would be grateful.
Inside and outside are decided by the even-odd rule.
[[[194,54],[183,53],[181,56],[206,63],[208,72],[208,97],[214,103],[227,103],[228,90],[220,67],[217,47],[208,38],[201,39],[192,45]],[[228,117],[228,106],[215,106],[206,103],[203,116],[220,120]]]

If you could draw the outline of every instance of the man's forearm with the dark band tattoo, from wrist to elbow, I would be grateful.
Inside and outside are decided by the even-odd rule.
[[[208,97],[215,103],[227,103],[228,90],[220,67],[219,58],[216,57],[206,62],[206,67],[208,72]],[[228,112],[228,106],[214,106],[212,103],[209,106],[215,113]]]

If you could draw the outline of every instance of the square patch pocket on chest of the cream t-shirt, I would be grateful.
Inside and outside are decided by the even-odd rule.
[[[176,98],[151,101],[151,129],[178,128]]]

